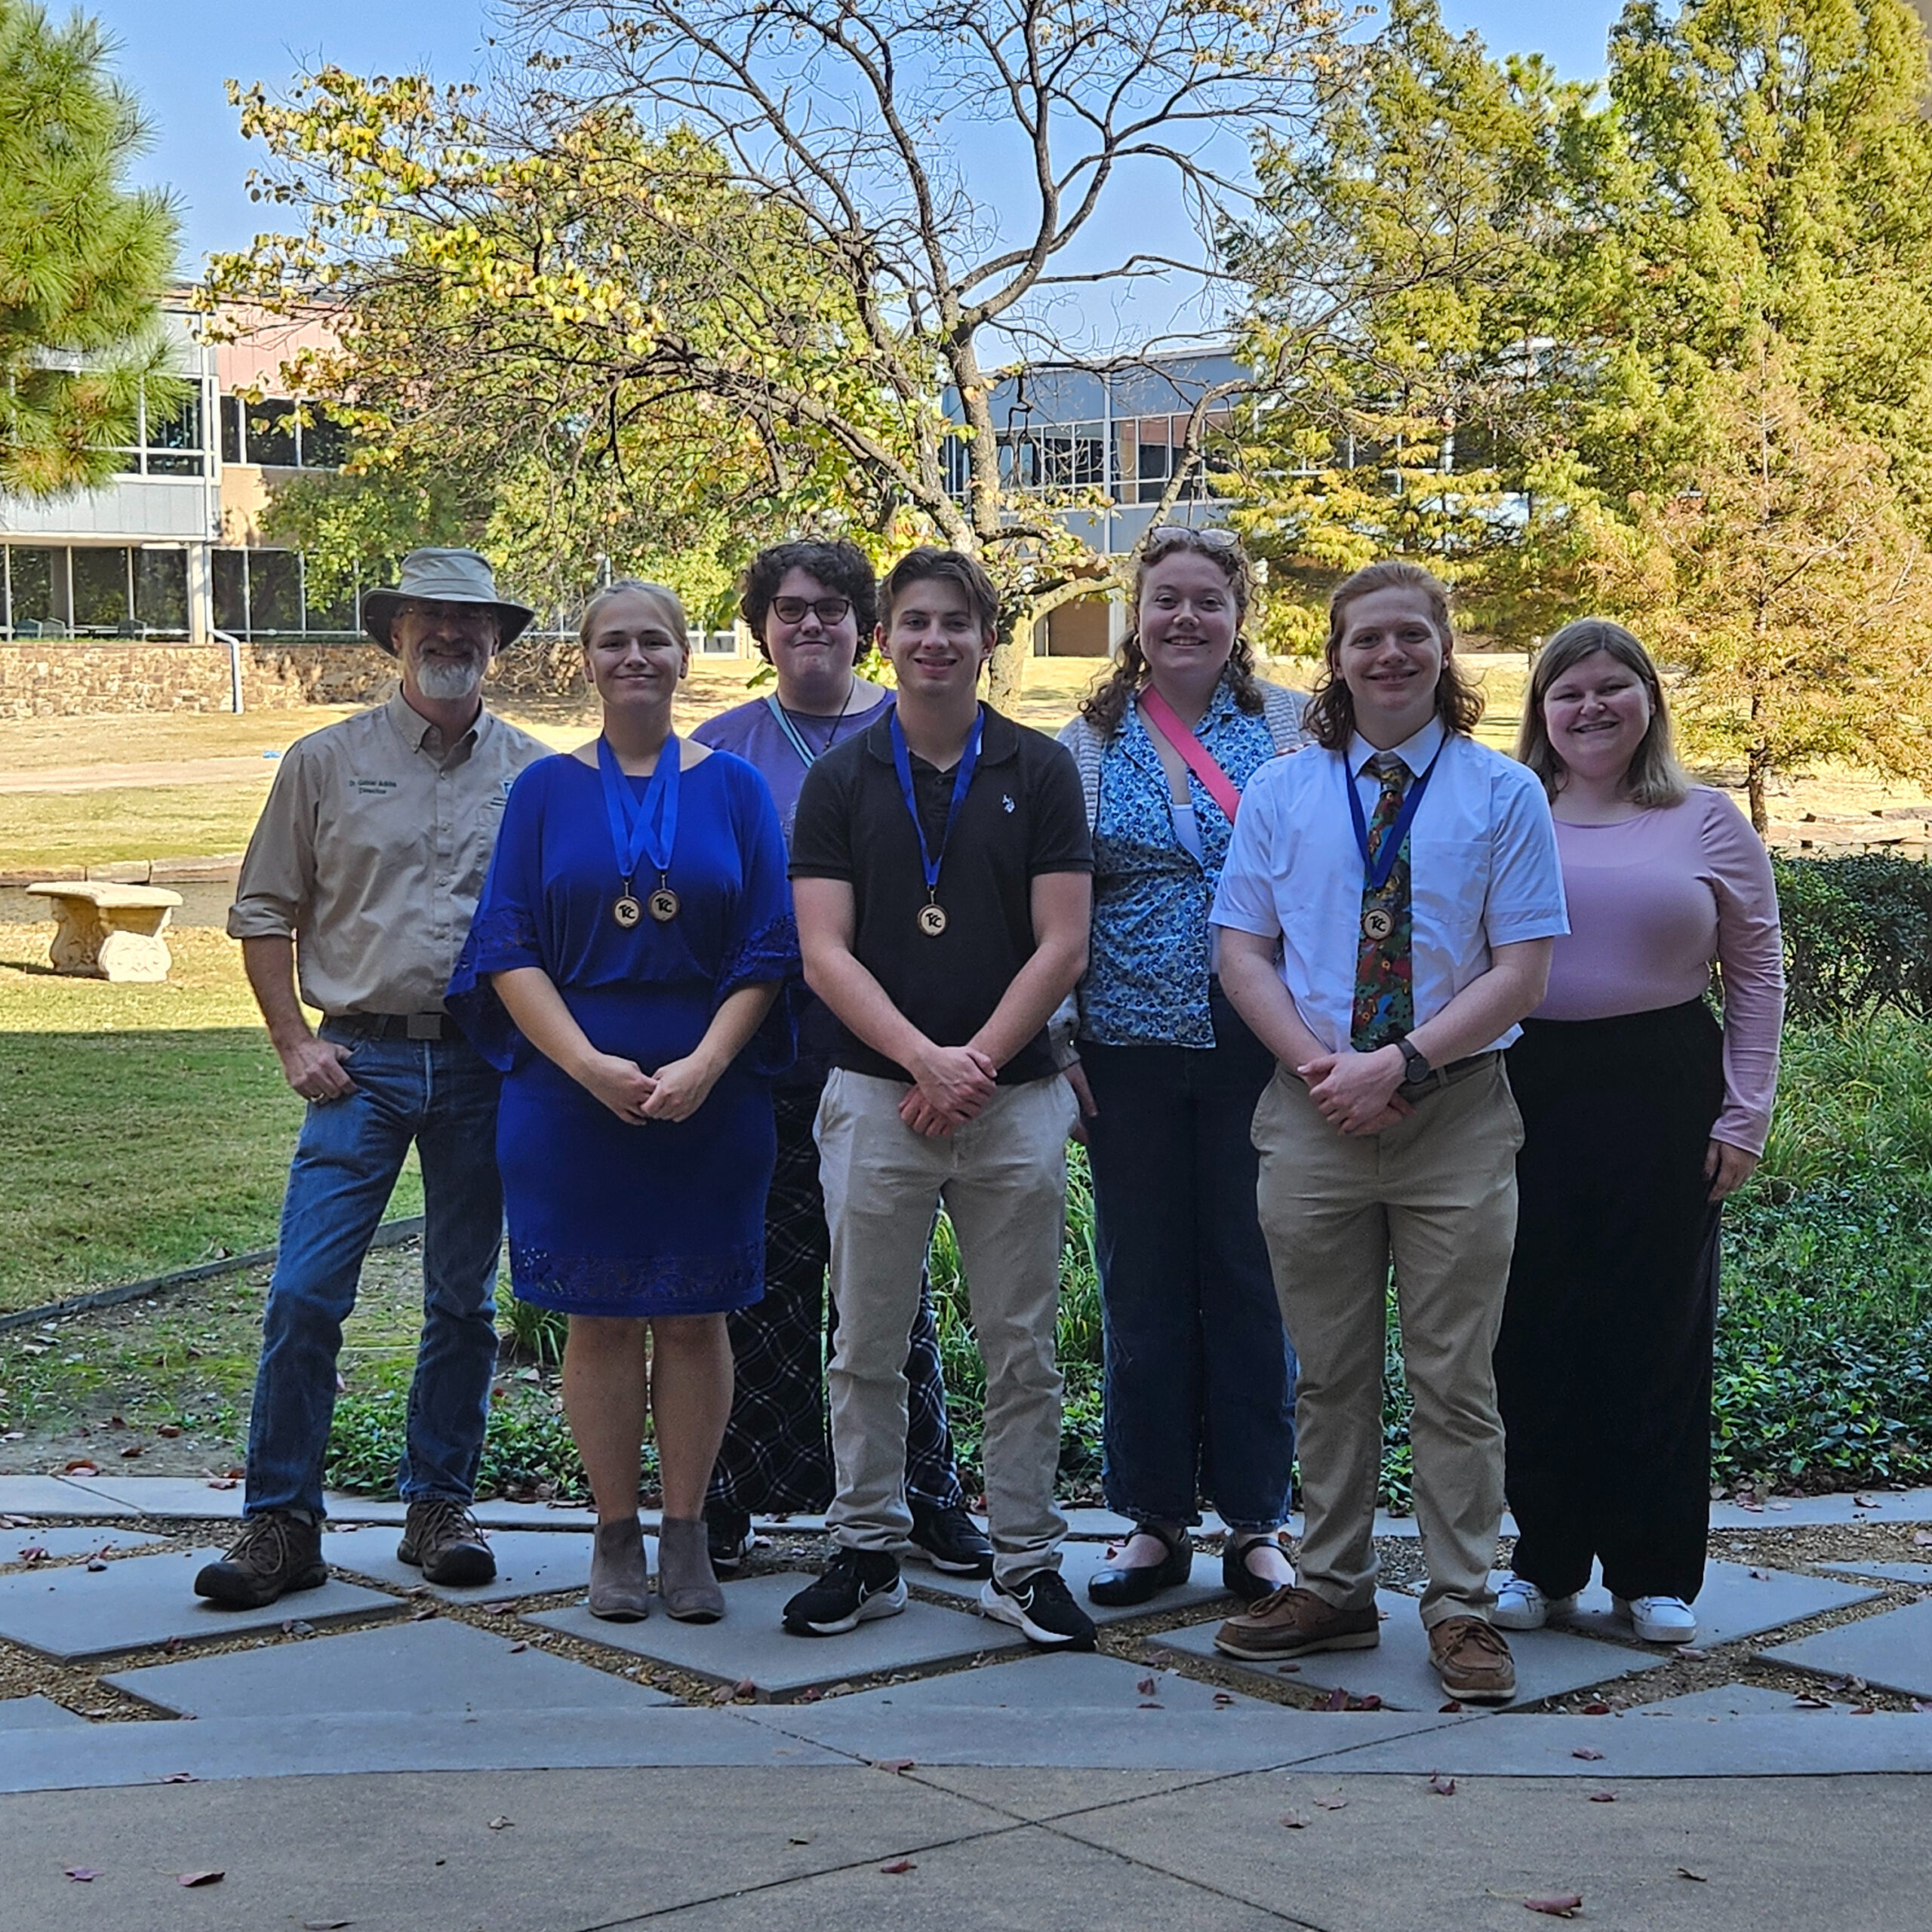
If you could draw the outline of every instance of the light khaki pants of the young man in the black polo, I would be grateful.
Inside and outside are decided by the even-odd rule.
[[[906,1507],[906,1333],[933,1215],[958,1235],[985,1360],[985,1505],[1001,1582],[1059,1569],[1066,1519],[1053,1507],[1061,1372],[1053,1327],[1066,1238],[1066,1082],[1001,1088],[952,1134],[898,1119],[906,1088],[837,1068],[819,1103],[819,1180],[833,1233],[838,1341],[825,1374],[838,1495],[827,1513],[846,1549],[891,1549]]]

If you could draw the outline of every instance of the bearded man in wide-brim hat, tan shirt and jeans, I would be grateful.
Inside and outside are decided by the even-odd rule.
[[[228,912],[288,1084],[309,1103],[263,1314],[242,1534],[195,1594],[253,1609],[327,1582],[323,1459],[342,1321],[413,1144],[423,1169],[423,1337],[398,1474],[398,1555],[431,1582],[489,1582],[469,1515],[497,1366],[497,1072],[444,1018],[502,804],[545,755],[483,705],[531,611],[475,551],[412,551],[363,624],[402,668],[371,711],[298,740]],[[299,997],[298,997],[299,985]],[[309,1032],[303,1005],[323,1014]]]

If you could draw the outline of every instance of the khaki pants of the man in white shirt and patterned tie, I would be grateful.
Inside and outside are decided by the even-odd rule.
[[[1300,1360],[1294,1422],[1308,1517],[1296,1575],[1341,1609],[1376,1598],[1383,1296],[1389,1264],[1414,1397],[1424,1625],[1488,1617],[1503,1517],[1490,1356],[1517,1238],[1522,1117],[1501,1059],[1428,1094],[1381,1134],[1337,1134],[1293,1074],[1254,1111],[1256,1198]]]

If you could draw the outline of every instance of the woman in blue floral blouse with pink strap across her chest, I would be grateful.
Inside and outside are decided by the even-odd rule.
[[[1244,1602],[1293,1582],[1275,1530],[1294,1461],[1294,1354],[1254,1209],[1267,1049],[1221,995],[1208,935],[1240,786],[1298,750],[1302,697],[1254,676],[1248,558],[1225,529],[1148,533],[1134,628],[1061,732],[1094,827],[1080,987],[1107,1331],[1107,1507],[1134,1536],[1088,1584],[1142,1604],[1188,1578],[1200,1499]]]

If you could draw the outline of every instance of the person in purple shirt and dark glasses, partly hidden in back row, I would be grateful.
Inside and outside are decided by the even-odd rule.
[[[860,639],[877,626],[879,587],[856,543],[777,543],[752,558],[740,612],[777,672],[777,690],[707,719],[692,738],[736,752],[763,773],[790,844],[806,773],[893,703],[891,692],[854,668]],[[753,1511],[821,1511],[833,1499],[821,1341],[831,1233],[811,1124],[838,1024],[804,983],[792,997],[798,1059],[773,1090],[779,1165],[765,1206],[765,1298],[730,1316],[736,1393],[705,1499],[719,1569],[744,1559]],[[837,1327],[837,1310],[831,1320]],[[993,1546],[966,1513],[952,1455],[939,1331],[923,1283],[908,1347],[912,1544],[935,1569],[991,1577]]]

